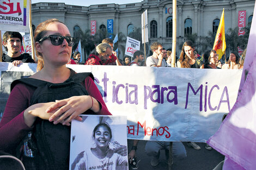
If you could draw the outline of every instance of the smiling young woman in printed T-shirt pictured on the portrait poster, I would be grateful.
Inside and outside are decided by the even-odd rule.
[[[89,170],[92,167],[102,169],[118,169],[120,165],[127,166],[126,146],[109,148],[112,139],[112,130],[107,123],[99,123],[93,130],[94,148],[85,150],[77,155],[71,165],[72,170]]]

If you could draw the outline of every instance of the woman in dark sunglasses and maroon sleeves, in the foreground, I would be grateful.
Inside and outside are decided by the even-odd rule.
[[[29,166],[26,169],[68,169],[72,119],[82,121],[79,115],[86,112],[111,113],[94,84],[93,75],[75,73],[66,67],[74,38],[63,22],[50,19],[40,23],[34,39],[39,71],[11,86],[0,122],[0,150],[22,155],[23,163],[27,160]],[[39,143],[44,141],[41,138],[47,144]]]

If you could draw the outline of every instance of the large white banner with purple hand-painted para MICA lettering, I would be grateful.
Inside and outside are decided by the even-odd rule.
[[[30,71],[33,65],[12,67],[1,62],[0,69]],[[127,138],[157,141],[208,140],[220,127],[223,114],[233,107],[242,73],[170,67],[67,66],[76,72],[93,73],[108,110],[115,116],[127,116]]]

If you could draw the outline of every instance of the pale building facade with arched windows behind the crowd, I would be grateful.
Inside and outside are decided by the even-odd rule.
[[[226,31],[238,26],[239,11],[245,11],[243,18],[247,26],[252,21],[254,3],[255,0],[177,0],[177,43],[182,44],[185,41],[185,34],[196,33],[200,37],[216,32],[223,8]],[[32,4],[32,22],[36,27],[48,18],[58,18],[68,26],[71,35],[74,35],[76,28],[81,28],[83,32],[92,30],[91,22],[96,21],[96,32],[105,29],[114,35],[121,32],[127,36],[135,28],[141,28],[141,14],[145,10],[148,10],[149,46],[158,41],[164,48],[171,48],[172,1],[168,0],[89,7],[64,3],[35,3]],[[110,22],[112,27],[108,28]]]

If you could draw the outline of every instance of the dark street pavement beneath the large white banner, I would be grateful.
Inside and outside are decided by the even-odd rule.
[[[164,150],[160,151],[160,163],[156,167],[150,165],[151,157],[147,156],[144,152],[145,143],[147,141],[139,141],[137,147],[137,161],[138,170],[168,170],[168,164],[166,163]],[[212,170],[218,163],[224,160],[224,156],[218,153],[216,150],[206,150],[204,148],[205,143],[197,143],[201,149],[196,150],[187,146],[187,142],[183,142],[186,150],[187,157],[183,160],[174,158],[172,170]],[[129,169],[131,169],[129,167]]]

